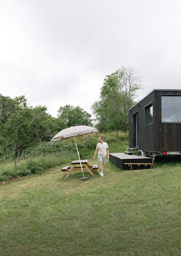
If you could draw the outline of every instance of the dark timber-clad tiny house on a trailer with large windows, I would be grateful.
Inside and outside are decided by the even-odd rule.
[[[154,89],[129,109],[129,147],[142,156],[181,155],[181,90]]]

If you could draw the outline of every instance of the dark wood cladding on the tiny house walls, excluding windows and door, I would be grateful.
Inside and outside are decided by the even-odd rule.
[[[181,123],[162,123],[161,96],[181,90],[153,90],[129,109],[129,147],[133,148],[133,114],[139,113],[139,149],[148,152],[181,151]],[[153,124],[145,126],[145,106],[153,102]]]

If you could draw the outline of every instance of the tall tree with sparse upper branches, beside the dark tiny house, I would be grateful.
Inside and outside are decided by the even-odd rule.
[[[131,66],[121,67],[104,79],[100,100],[92,105],[100,131],[128,129],[128,109],[136,103],[136,92],[142,88],[141,77],[136,74]]]

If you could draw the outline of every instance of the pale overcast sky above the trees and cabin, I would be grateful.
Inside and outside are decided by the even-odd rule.
[[[0,0],[0,93],[57,116],[88,113],[106,75],[137,69],[144,89],[181,89],[180,0]]]

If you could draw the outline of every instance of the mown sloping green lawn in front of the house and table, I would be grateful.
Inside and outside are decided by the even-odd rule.
[[[166,162],[123,172],[106,160],[104,177],[83,182],[54,168],[2,183],[0,255],[181,255],[181,163]]]

